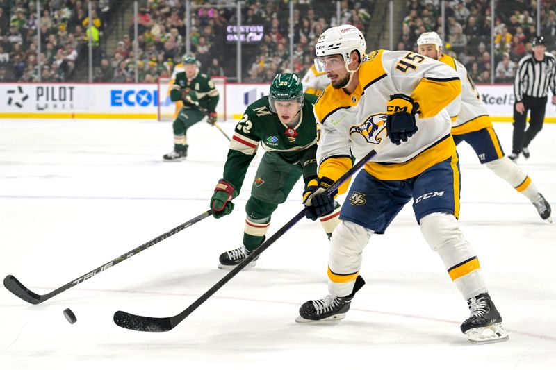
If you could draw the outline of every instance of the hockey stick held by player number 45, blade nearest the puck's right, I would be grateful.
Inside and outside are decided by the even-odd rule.
[[[386,142],[386,140],[382,140],[382,143]],[[388,140],[389,141],[389,140]],[[379,144],[382,146],[383,144]],[[374,149],[370,151],[365,157],[359,162],[357,162],[352,168],[347,170],[341,178],[330,185],[330,187],[325,191],[327,196],[330,196],[333,192],[335,192],[340,185],[345,183],[345,181],[350,178],[355,172],[359,171],[361,167],[365,165],[371,158],[377,155],[377,151]],[[121,326],[122,328],[130,329],[130,330],[137,330],[137,331],[149,331],[149,332],[163,332],[169,331],[175,328],[183,319],[188,317],[193,311],[195,311],[200,305],[204,303],[208,298],[210,298],[215,292],[218,291],[221,287],[224,286],[231,278],[236,276],[239,271],[241,271],[247,264],[250,264],[252,260],[257,258],[261,253],[263,253],[272,243],[276,242],[279,237],[284,235],[286,231],[292,228],[295,224],[297,224],[300,219],[302,219],[305,215],[305,210],[301,210],[297,215],[293,217],[287,224],[282,226],[280,230],[278,230],[274,235],[272,235],[269,239],[267,239],[259,248],[255,249],[250,255],[245,258],[240,264],[234,267],[228,274],[226,274],[218,283],[213,285],[211,289],[208,289],[202,296],[197,298],[197,301],[193,302],[188,308],[180,312],[179,314],[172,316],[172,317],[145,317],[145,316],[138,316],[136,314],[130,314],[124,311],[117,311],[114,314],[114,322],[117,326]]]

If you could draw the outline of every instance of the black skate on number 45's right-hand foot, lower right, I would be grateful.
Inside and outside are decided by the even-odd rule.
[[[488,293],[479,294],[467,301],[471,314],[461,324],[461,332],[475,344],[501,342],[509,339],[502,328],[502,317]]]

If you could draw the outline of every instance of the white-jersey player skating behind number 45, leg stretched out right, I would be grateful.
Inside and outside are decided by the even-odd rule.
[[[482,165],[486,165],[496,175],[526,196],[537,208],[542,219],[552,222],[550,203],[539,193],[531,178],[504,156],[498,136],[492,126],[491,117],[480,100],[467,69],[460,62],[442,52],[442,40],[436,32],[425,32],[417,40],[418,52],[429,58],[439,60],[456,70],[461,80],[461,108],[448,112],[452,117],[452,135],[457,144],[467,142],[473,147]]]

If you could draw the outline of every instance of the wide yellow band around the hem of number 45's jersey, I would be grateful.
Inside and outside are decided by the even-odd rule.
[[[452,135],[447,135],[406,162],[367,162],[365,170],[379,180],[407,180],[455,155],[454,138]]]

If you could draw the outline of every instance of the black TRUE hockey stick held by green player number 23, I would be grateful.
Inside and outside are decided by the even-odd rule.
[[[20,283],[19,280],[17,280],[17,278],[15,278],[15,276],[13,276],[13,275],[8,275],[8,276],[6,276],[6,278],[4,278],[4,287],[6,287],[6,289],[8,289],[13,294],[15,294],[15,296],[18,296],[19,298],[22,298],[24,301],[26,301],[28,303],[32,303],[33,305],[38,305],[39,303],[47,301],[47,299],[50,299],[53,296],[56,296],[56,295],[60,294],[61,292],[64,292],[65,290],[70,289],[71,287],[74,287],[75,285],[83,283],[83,281],[88,280],[89,278],[92,278],[93,276],[99,274],[100,272],[105,271],[109,267],[113,267],[115,264],[118,264],[118,263],[120,263],[124,260],[127,260],[132,255],[136,255],[139,252],[145,251],[145,249],[147,249],[151,246],[154,246],[154,244],[162,242],[167,237],[171,237],[172,235],[174,235],[176,233],[179,233],[181,230],[183,230],[185,228],[188,228],[189,226],[191,226],[193,224],[196,224],[197,222],[201,221],[202,219],[204,219],[204,218],[206,218],[206,217],[208,217],[212,214],[213,214],[213,210],[208,210],[206,212],[203,212],[201,215],[199,215],[197,217],[193,217],[193,219],[190,219],[189,221],[186,221],[185,223],[181,224],[180,226],[172,228],[172,230],[168,231],[167,233],[164,233],[163,235],[155,237],[154,239],[150,240],[149,242],[146,242],[145,244],[142,244],[141,246],[138,246],[136,249],[132,249],[131,251],[120,255],[120,257],[115,258],[114,260],[111,260],[110,262],[108,262],[106,264],[103,264],[101,267],[97,267],[96,269],[88,272],[87,274],[85,274],[83,276],[79,276],[79,278],[76,278],[75,280],[70,281],[70,283],[67,283],[66,285],[63,285],[63,286],[59,287],[56,290],[53,290],[52,292],[50,292],[48,294],[42,294],[41,295],[41,294],[36,294],[36,293],[31,292],[31,290],[29,290],[27,287],[25,287],[25,285]]]

